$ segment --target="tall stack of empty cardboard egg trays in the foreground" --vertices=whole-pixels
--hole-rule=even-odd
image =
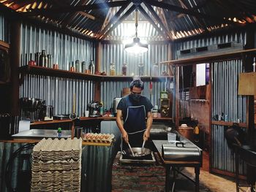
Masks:
[[[42,139],[32,153],[31,192],[80,191],[81,139]]]

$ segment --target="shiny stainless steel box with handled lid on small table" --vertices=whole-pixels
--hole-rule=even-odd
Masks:
[[[162,157],[169,161],[201,161],[202,150],[191,142],[162,145]]]

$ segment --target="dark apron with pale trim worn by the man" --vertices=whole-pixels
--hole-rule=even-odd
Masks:
[[[128,107],[127,118],[124,120],[124,129],[127,131],[129,145],[131,145],[131,147],[142,147],[143,134],[146,130],[145,118],[146,110],[143,105]],[[121,140],[121,150],[128,148],[127,143]]]

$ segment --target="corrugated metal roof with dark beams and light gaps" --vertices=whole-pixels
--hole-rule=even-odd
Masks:
[[[100,40],[132,37],[135,9],[139,12],[138,37],[145,40],[180,39],[256,22],[253,0],[0,0],[0,3],[26,17]]]

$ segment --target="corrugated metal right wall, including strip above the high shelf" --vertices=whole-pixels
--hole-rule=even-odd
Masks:
[[[225,42],[246,43],[245,32],[219,35],[205,39],[195,39],[187,42],[175,44],[175,51],[186,50],[192,47],[203,47]],[[177,58],[177,55],[174,55]],[[241,60],[222,61],[211,64],[212,77],[212,101],[211,113],[221,115],[227,114],[228,121],[246,121],[246,99],[238,96],[238,74],[242,72]],[[226,172],[235,172],[235,158],[231,150],[227,147],[224,137],[224,126],[211,126],[211,168]],[[240,164],[240,174],[245,174],[244,164]]]

